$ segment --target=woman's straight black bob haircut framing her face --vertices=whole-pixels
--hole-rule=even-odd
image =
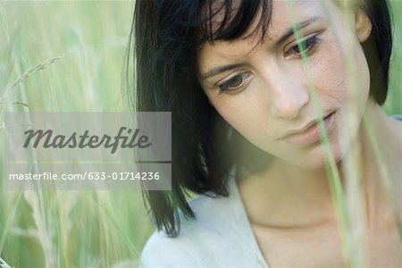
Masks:
[[[227,197],[228,174],[235,162],[255,171],[270,158],[222,119],[197,80],[197,48],[205,42],[240,38],[259,11],[256,29],[264,35],[268,28],[272,0],[241,0],[236,10],[231,8],[233,2],[141,0],[135,4],[127,63],[134,60],[136,89],[129,96],[137,111],[172,112],[172,190],[144,189],[143,198],[157,229],[170,237],[179,234],[179,210],[187,218],[196,217],[186,201],[186,189]],[[389,4],[387,0],[358,4],[373,24],[362,46],[370,69],[370,97],[382,105],[392,48]],[[213,29],[218,13],[223,19]]]

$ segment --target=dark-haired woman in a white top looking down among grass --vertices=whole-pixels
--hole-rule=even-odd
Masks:
[[[172,111],[140,266],[402,265],[386,0],[144,0],[133,33],[138,110]]]

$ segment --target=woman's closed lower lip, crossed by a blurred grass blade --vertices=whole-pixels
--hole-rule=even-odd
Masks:
[[[333,112],[333,113],[330,113],[329,115],[327,115],[323,119],[325,130],[327,130],[327,132],[329,132],[329,130],[331,130],[333,122],[335,121],[335,115],[336,115],[336,112]],[[316,123],[314,123],[314,125],[309,127],[306,131],[296,133],[296,134],[291,134],[282,139],[292,145],[308,146],[308,145],[320,140],[320,127],[318,125],[318,122],[316,122]]]

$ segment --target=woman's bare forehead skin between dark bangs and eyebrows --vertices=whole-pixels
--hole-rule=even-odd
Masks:
[[[252,35],[248,35],[254,29],[258,28],[257,22],[253,21],[249,29],[242,37],[230,40],[214,39],[214,42],[205,42],[197,50],[197,71],[200,75],[209,71],[211,67],[221,63],[231,63],[233,61],[247,62],[253,55],[256,47],[264,47],[264,50],[274,51],[277,44],[285,44],[294,34],[294,26],[297,29],[305,30],[305,32],[313,32],[325,29],[326,27],[334,28],[333,31],[339,32],[339,29],[345,29],[343,23],[343,14],[332,1],[294,1],[295,6],[287,6],[285,1],[272,2],[272,17],[269,27],[262,38],[261,30],[255,30]],[[293,2],[290,2],[293,3]],[[294,10],[292,10],[294,8]],[[327,12],[327,9],[331,13]],[[328,19],[331,16],[331,19]],[[335,25],[331,25],[334,22]],[[333,23],[332,23],[333,24]],[[336,29],[335,29],[336,28]]]

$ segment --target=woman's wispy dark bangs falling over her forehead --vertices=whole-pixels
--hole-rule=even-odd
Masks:
[[[258,30],[262,40],[271,14],[272,0],[205,0],[198,41],[202,44],[248,38]]]

